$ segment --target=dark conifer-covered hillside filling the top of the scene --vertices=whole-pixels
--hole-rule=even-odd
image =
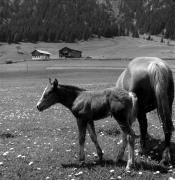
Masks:
[[[175,39],[174,0],[0,1],[0,42],[77,42],[144,33]]]

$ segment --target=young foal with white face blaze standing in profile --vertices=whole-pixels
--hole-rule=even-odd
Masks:
[[[51,105],[61,103],[67,107],[77,119],[79,130],[79,160],[85,161],[84,143],[86,128],[91,140],[95,144],[99,160],[102,160],[102,150],[97,141],[94,120],[113,116],[122,130],[122,147],[117,160],[123,158],[127,143],[129,145],[126,170],[134,165],[135,133],[132,130],[132,122],[137,116],[137,97],[134,93],[116,87],[100,91],[89,91],[70,85],[58,84],[57,79],[45,88],[43,95],[37,103],[39,111],[49,108]]]

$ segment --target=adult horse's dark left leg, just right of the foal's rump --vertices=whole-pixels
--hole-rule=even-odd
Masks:
[[[147,127],[148,127],[146,113],[139,111],[137,118],[139,121],[140,134],[141,134],[141,139],[140,139],[141,153],[144,153],[146,149],[146,135],[147,135]]]

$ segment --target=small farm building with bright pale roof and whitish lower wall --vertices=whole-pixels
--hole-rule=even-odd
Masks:
[[[39,49],[35,49],[34,51],[32,51],[33,60],[47,60],[50,58],[50,55],[51,53]]]

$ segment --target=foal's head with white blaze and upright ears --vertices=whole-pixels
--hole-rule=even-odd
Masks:
[[[53,82],[51,82],[51,79],[49,79],[49,84],[44,89],[44,92],[37,103],[37,109],[39,111],[44,111],[45,109],[57,103],[57,87],[57,79],[55,79]]]

